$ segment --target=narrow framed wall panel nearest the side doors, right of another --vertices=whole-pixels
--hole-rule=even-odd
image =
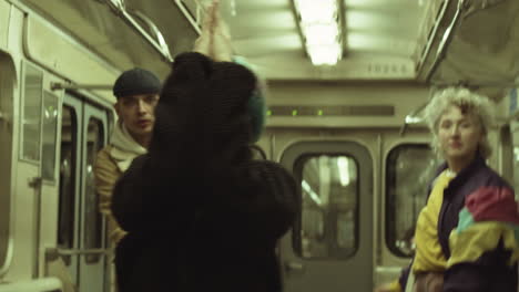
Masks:
[[[54,180],[55,138],[58,126],[58,97],[49,92],[43,94],[43,138],[41,150],[41,177]]]

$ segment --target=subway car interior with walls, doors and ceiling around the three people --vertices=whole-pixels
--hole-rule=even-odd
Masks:
[[[112,85],[167,76],[210,0],[0,0],[0,291],[114,291],[95,154]],[[489,96],[489,165],[519,187],[519,1],[221,0],[236,55],[268,84],[258,159],[302,186],[278,242],[287,292],[398,277],[440,163],[423,109],[446,86]]]

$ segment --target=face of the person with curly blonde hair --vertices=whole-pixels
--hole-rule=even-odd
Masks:
[[[480,122],[474,114],[464,114],[449,106],[438,123],[438,139],[447,160],[470,160],[484,138]]]

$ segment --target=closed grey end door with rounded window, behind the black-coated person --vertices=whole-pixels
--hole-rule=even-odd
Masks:
[[[281,241],[285,291],[373,290],[374,169],[353,140],[299,142],[281,163],[302,184],[302,211]]]

